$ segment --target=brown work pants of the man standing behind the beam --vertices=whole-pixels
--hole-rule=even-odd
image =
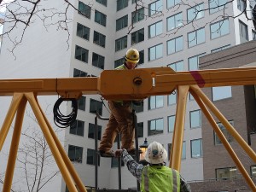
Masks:
[[[119,132],[121,132],[121,148],[131,150],[131,148],[134,148],[134,124],[131,102],[108,101],[108,107],[111,114],[108,125],[103,133],[99,150],[109,151]]]

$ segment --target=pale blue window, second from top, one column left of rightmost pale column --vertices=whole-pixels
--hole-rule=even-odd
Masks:
[[[197,44],[202,44],[206,41],[205,28],[198,29],[188,33],[188,47],[193,47]]]

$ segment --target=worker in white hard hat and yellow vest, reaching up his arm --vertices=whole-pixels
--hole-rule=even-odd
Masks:
[[[128,170],[141,183],[142,192],[190,192],[189,183],[176,170],[166,166],[166,149],[157,142],[150,143],[145,153],[147,166],[138,164],[126,149],[118,149],[115,156],[121,156]]]

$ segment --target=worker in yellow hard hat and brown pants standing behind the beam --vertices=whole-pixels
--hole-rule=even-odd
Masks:
[[[137,67],[139,52],[137,49],[128,49],[125,61],[116,70],[132,70]],[[111,150],[115,137],[121,132],[121,148],[127,149],[129,154],[135,154],[134,147],[134,122],[131,108],[132,101],[108,101],[110,117],[108,125],[103,133],[99,146],[99,154],[102,157],[113,157]]]

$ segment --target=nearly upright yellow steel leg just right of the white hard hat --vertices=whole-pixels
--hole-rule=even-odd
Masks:
[[[170,167],[180,171],[180,164],[183,151],[183,134],[185,124],[186,103],[188,98],[189,86],[178,86],[177,88],[177,113],[172,137],[172,152]],[[175,143],[175,144],[173,144]]]

